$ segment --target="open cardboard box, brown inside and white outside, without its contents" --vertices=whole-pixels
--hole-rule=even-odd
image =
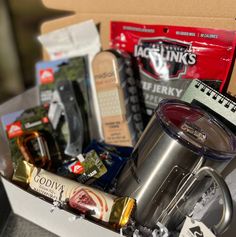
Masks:
[[[109,0],[43,0],[43,3],[48,8],[68,10],[73,14],[65,18],[45,22],[42,25],[42,33],[84,20],[94,19],[99,26],[104,49],[109,48],[111,20],[236,30],[236,4],[234,0],[121,0],[112,2]],[[45,52],[43,57],[47,58]],[[234,74],[236,74],[236,70],[234,70]],[[29,96],[35,98],[35,91],[29,93]],[[15,103],[13,106],[15,110],[26,106],[23,101],[29,100],[29,97],[27,97],[28,99],[25,96],[23,97],[18,97],[18,99],[21,99],[20,104],[15,103],[18,99],[12,101],[13,104]],[[36,103],[36,101],[30,100],[28,106]],[[0,107],[1,114],[14,111],[13,107],[10,109],[12,111],[8,111],[8,105],[9,102]],[[20,107],[17,107],[17,105],[20,105]],[[1,146],[6,146],[6,144],[3,142]],[[6,150],[6,148],[4,149]],[[4,164],[10,164],[9,159],[6,158],[7,153]],[[9,174],[10,165],[6,165],[5,169],[8,170],[5,173]],[[87,220],[76,219],[72,221],[74,215],[66,211],[56,209],[54,212],[50,212],[51,204],[18,188],[5,178],[2,178],[2,182],[12,209],[16,214],[59,236],[119,236],[119,234]],[[233,220],[230,231],[222,236],[232,236],[232,233],[236,231],[234,226],[236,228],[236,218]]]

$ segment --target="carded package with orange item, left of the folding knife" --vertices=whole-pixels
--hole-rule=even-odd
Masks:
[[[47,111],[44,106],[36,106],[1,117],[14,168],[22,159],[47,170],[60,163],[61,155]]]

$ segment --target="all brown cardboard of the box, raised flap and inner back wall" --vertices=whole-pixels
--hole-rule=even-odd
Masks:
[[[181,25],[236,30],[234,0],[42,0],[48,8],[74,14],[42,24],[42,33],[81,21],[93,19],[99,27],[102,47],[109,48],[110,21],[130,21],[143,24]],[[48,58],[44,52],[44,58]],[[225,90],[236,96],[236,64]]]

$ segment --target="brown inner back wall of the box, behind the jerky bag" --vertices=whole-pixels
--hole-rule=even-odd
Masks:
[[[155,16],[155,15],[123,15],[123,14],[75,14],[68,17],[59,18],[42,24],[41,32],[47,33],[53,30],[76,24],[81,21],[93,19],[99,24],[103,49],[109,48],[110,22],[130,21],[142,24],[164,24],[164,25],[184,25],[195,27],[222,28],[228,30],[236,29],[236,21],[230,18],[199,18],[199,17],[176,17],[176,16]]]

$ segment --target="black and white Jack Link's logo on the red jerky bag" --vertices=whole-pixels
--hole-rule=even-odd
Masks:
[[[197,61],[190,43],[161,37],[141,38],[134,46],[134,56],[143,73],[162,80],[181,78],[188,65]]]

